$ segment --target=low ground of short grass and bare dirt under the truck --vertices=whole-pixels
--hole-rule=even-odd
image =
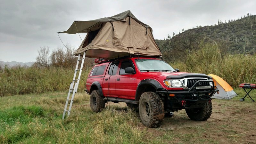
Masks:
[[[67,92],[0,97],[0,143],[255,143],[255,102],[240,102],[245,92],[235,91],[232,100],[212,100],[207,121],[191,121],[181,110],[160,128],[145,127],[125,103],[93,113],[85,93],[76,95],[65,120]],[[256,100],[255,90],[250,95]]]

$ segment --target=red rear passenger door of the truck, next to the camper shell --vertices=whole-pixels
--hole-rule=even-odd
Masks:
[[[119,61],[114,61],[110,64],[109,69],[103,79],[103,95],[115,96],[115,79],[117,75]]]

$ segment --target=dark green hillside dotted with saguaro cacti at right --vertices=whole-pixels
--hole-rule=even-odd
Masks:
[[[238,20],[231,19],[224,22],[218,20],[218,24],[211,26],[183,29],[172,37],[156,40],[156,43],[162,52],[171,51],[179,45],[186,51],[186,47],[191,41],[193,42],[194,38],[199,40],[202,38],[204,42],[220,42],[228,53],[254,54],[256,52],[256,15],[249,15],[247,12],[247,15]]]

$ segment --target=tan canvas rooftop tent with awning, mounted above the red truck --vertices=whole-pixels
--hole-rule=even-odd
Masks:
[[[152,34],[152,28],[138,20],[129,10],[108,18],[74,21],[67,31],[87,33],[75,55],[114,59],[130,54],[162,56]]]

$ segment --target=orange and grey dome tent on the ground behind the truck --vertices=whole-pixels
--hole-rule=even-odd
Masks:
[[[219,93],[215,93],[211,98],[230,100],[235,96],[237,96],[236,92],[225,80],[223,80],[219,76],[212,75],[212,74],[208,76],[212,77],[212,80],[214,81],[215,86],[217,86],[219,89]]]

